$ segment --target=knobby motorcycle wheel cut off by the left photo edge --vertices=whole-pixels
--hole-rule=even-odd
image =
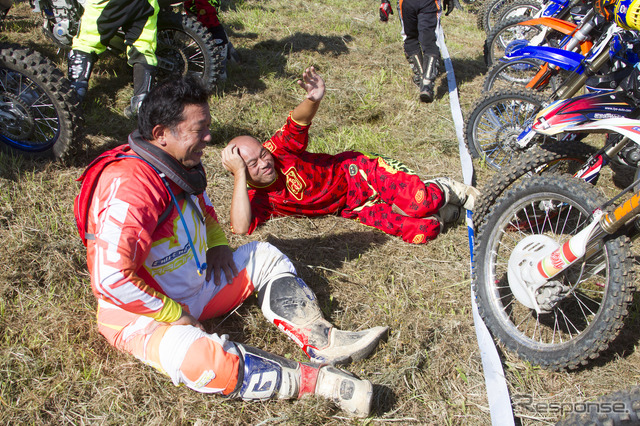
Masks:
[[[40,53],[0,49],[0,148],[62,159],[77,135],[77,100],[62,72]]]

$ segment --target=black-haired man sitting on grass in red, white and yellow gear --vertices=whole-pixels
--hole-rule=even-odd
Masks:
[[[205,192],[200,160],[211,140],[199,80],[158,84],[145,97],[129,143],[85,171],[75,213],[87,245],[98,331],[116,348],[199,392],[247,400],[318,394],[369,415],[372,385],[332,367],[368,356],[387,327],[338,330],[274,246],[232,252]],[[311,359],[291,361],[200,323],[256,292],[265,317]]]

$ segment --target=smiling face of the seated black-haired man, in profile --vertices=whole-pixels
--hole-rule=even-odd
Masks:
[[[166,129],[164,150],[190,169],[200,164],[204,148],[211,141],[211,114],[207,104],[189,104],[182,116],[184,120],[175,128]]]

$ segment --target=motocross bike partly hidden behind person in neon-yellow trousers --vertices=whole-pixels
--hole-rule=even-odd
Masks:
[[[62,49],[71,49],[84,12],[79,0],[30,0],[43,17],[44,33]],[[171,75],[193,74],[212,90],[224,73],[223,48],[216,46],[209,31],[192,16],[172,10],[175,0],[161,0],[158,13],[158,80]],[[114,37],[109,49],[125,51],[124,37]]]

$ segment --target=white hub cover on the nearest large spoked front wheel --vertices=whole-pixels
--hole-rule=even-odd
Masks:
[[[509,256],[507,278],[514,297],[529,309],[538,313],[549,312],[560,300],[562,285],[556,281],[535,280],[540,259],[560,247],[546,235],[529,235],[523,238]]]

